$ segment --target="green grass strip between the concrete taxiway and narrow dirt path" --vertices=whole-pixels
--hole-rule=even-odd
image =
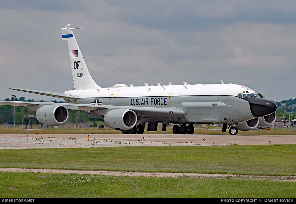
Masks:
[[[0,150],[0,167],[296,175],[296,145]]]

